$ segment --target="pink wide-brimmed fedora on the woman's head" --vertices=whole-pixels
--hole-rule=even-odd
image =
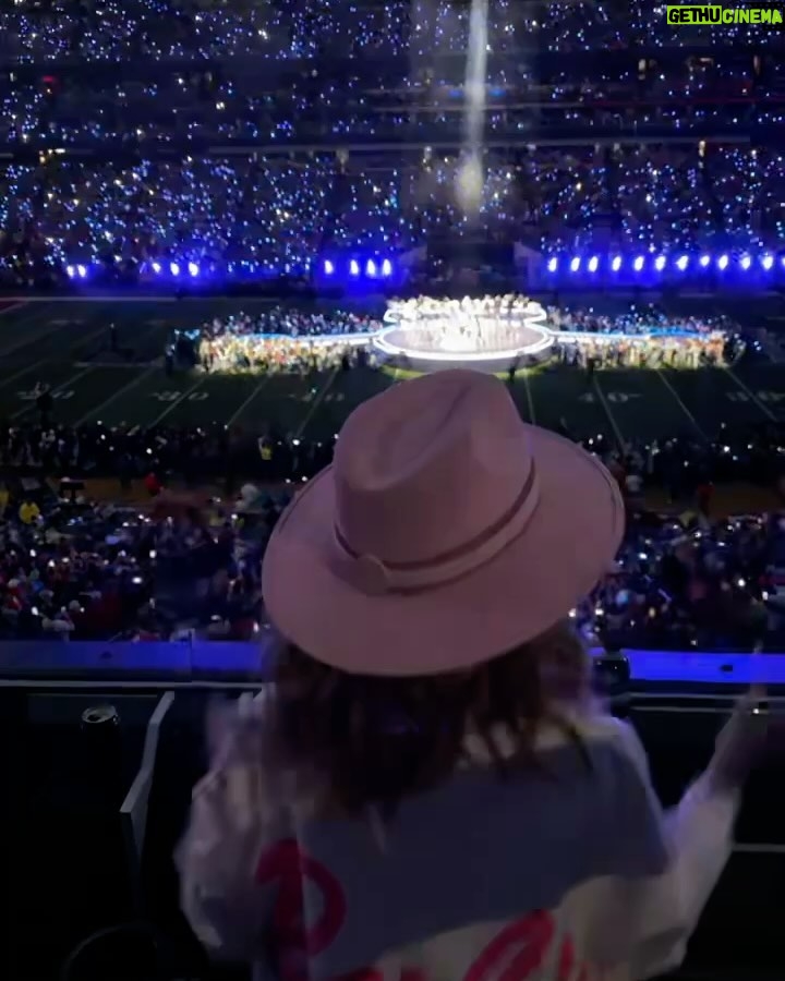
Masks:
[[[335,462],[270,537],[264,601],[282,635],[325,664],[438,674],[555,625],[623,532],[601,463],[521,422],[497,378],[438,372],[347,420]]]

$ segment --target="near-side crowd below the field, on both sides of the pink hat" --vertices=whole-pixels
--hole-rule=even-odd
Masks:
[[[69,472],[95,472],[104,434],[76,435],[84,456],[62,462],[73,468]],[[138,472],[150,468],[145,483],[153,502],[143,513],[90,501],[65,484],[59,497],[38,482],[31,491],[14,468],[3,468],[10,476],[0,488],[0,637],[152,640],[194,632],[247,640],[261,629],[261,557],[291,491],[281,475],[289,474],[289,484],[307,480],[327,462],[331,447],[267,436],[256,444],[257,464],[240,463],[234,471],[234,482],[251,471],[257,483],[227,487],[224,502],[205,500],[203,509],[189,506],[174,518],[162,517],[156,498],[164,482],[183,471],[194,476],[182,456],[184,435],[110,434],[126,452],[134,443],[145,448],[136,463]],[[197,440],[193,434],[194,452]],[[240,452],[249,453],[251,463],[251,441],[238,440],[235,464]],[[782,646],[785,519],[712,517],[713,480],[733,475],[734,469],[765,473],[766,434],[746,445],[744,459],[735,446],[733,453],[720,445],[710,451],[685,439],[629,445],[624,456],[602,436],[585,446],[608,463],[628,502],[627,536],[615,567],[571,614],[587,639],[614,649]],[[150,447],[156,449],[148,462]],[[33,457],[24,470],[41,469]],[[44,472],[57,470],[58,461],[50,460]],[[283,489],[259,489],[273,480]],[[662,482],[683,502],[680,513],[647,510],[647,487]]]

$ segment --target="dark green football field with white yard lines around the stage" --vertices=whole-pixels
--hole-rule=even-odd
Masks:
[[[702,301],[704,304],[708,301]],[[0,417],[35,419],[33,389],[48,383],[56,420],[68,424],[201,426],[246,431],[276,425],[299,438],[326,439],[364,399],[395,384],[375,372],[335,372],[312,383],[287,375],[217,376],[160,366],[172,328],[197,327],[264,301],[76,300],[0,304]],[[776,326],[777,307],[746,308],[748,326]],[[107,364],[108,328],[134,363]],[[785,322],[780,325],[785,326]],[[155,364],[150,364],[154,362]],[[406,384],[400,382],[400,384]],[[664,437],[685,432],[712,438],[720,424],[785,420],[785,364],[741,364],[733,371],[608,371],[589,384],[581,373],[540,370],[519,378],[521,414],[543,426],[564,419],[576,436],[604,433]]]

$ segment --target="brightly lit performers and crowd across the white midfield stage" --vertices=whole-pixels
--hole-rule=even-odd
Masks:
[[[379,361],[370,343],[348,344],[341,335],[367,334],[370,340],[384,326],[397,325],[396,342],[404,347],[408,338],[418,350],[469,355],[515,349],[529,322],[554,332],[554,354],[563,364],[582,367],[698,368],[724,364],[744,350],[727,317],[673,317],[650,304],[631,305],[616,316],[588,308],[543,310],[522,294],[508,293],[473,300],[392,299],[384,318],[286,307],[253,317],[216,317],[201,328],[197,355],[208,372],[306,374],[350,367],[358,359],[375,367]],[[527,337],[527,343],[532,337],[536,335]]]

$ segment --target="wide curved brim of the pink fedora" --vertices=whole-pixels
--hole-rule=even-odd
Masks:
[[[298,494],[270,537],[263,594],[291,643],[352,674],[434,675],[482,664],[563,619],[613,562],[624,534],[616,481],[593,457],[526,426],[540,501],[522,535],[470,574],[422,593],[369,596],[327,560],[333,468]]]

